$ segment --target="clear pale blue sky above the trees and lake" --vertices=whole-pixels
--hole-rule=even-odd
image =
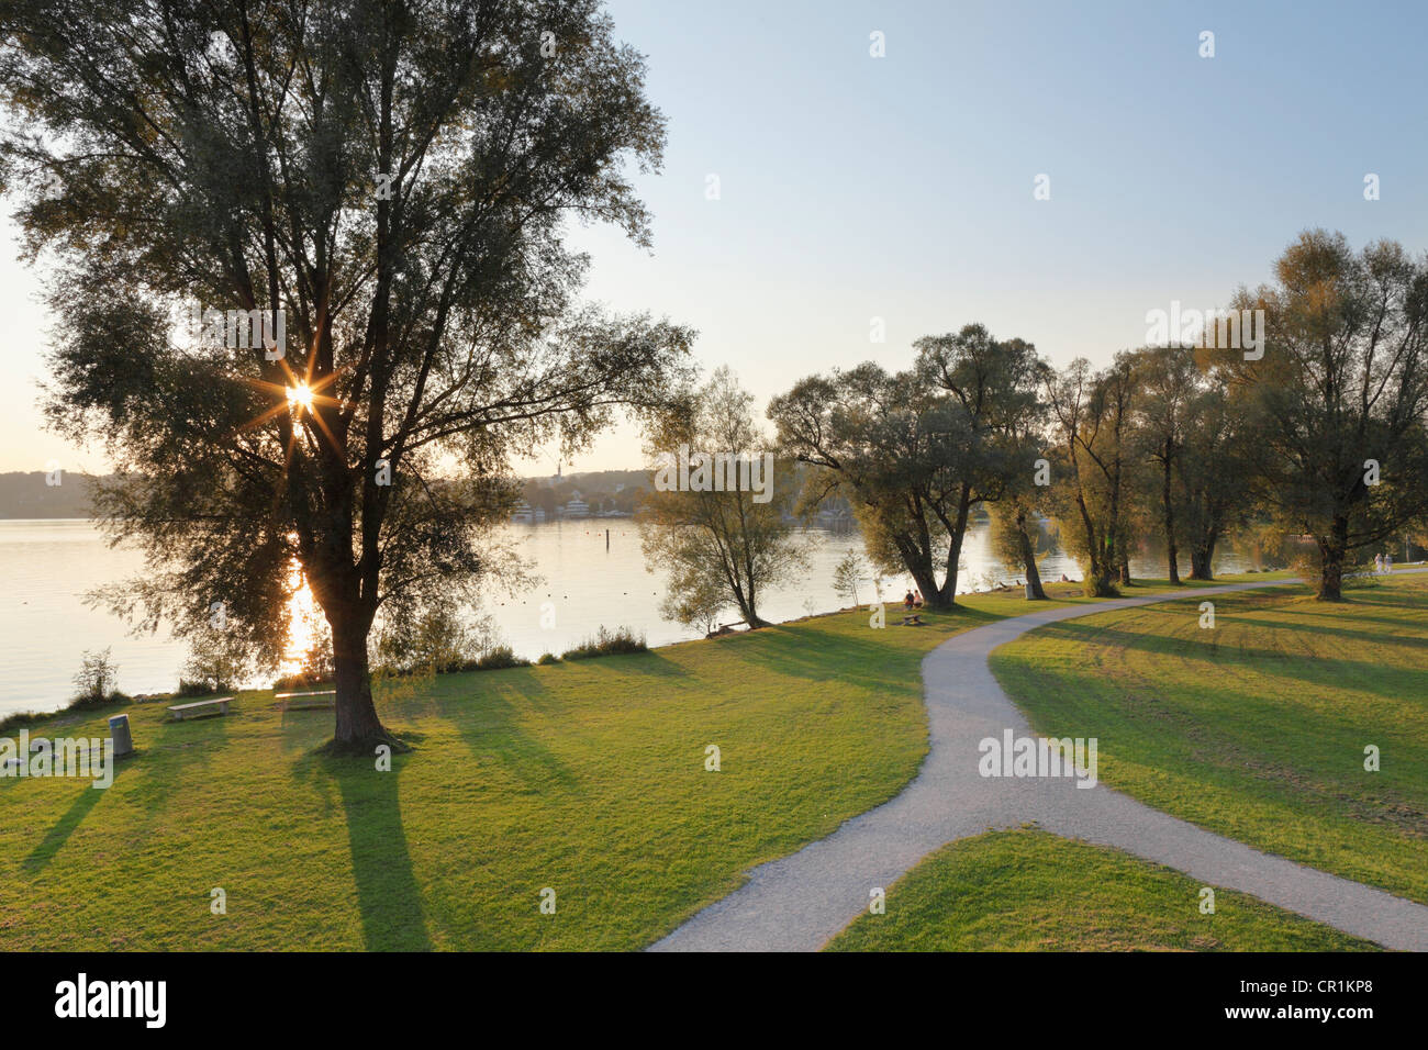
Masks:
[[[733,366],[760,406],[811,371],[902,367],[914,339],[968,321],[1058,364],[1104,361],[1144,341],[1147,310],[1267,280],[1311,226],[1428,249],[1424,3],[608,10],[648,56],[670,136],[664,171],[640,180],[654,251],[573,233],[595,260],[590,296],[700,329],[701,364]],[[1032,199],[1041,173],[1051,200]],[[0,470],[103,467],[36,433],[46,319],[13,240],[7,223]],[[870,341],[871,317],[885,343]],[[621,430],[575,467],[638,463]]]

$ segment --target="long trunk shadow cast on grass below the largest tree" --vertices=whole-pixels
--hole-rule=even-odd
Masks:
[[[368,951],[431,950],[397,793],[404,761],[407,759],[394,756],[391,771],[381,773],[367,759],[311,754],[303,760],[307,773],[320,781],[336,783],[341,796]]]

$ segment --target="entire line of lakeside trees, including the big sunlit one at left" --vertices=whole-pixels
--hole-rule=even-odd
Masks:
[[[630,173],[658,169],[665,131],[644,71],[597,0],[0,7],[0,191],[51,263],[47,417],[104,449],[101,520],[149,559],[97,599],[188,636],[221,604],[227,643],[273,664],[306,581],[331,634],[331,747],[371,754],[401,747],[373,703],[374,624],[500,583],[514,457],[567,459],[617,411],[755,443],[721,426],[747,399],[701,407],[690,329],[580,301],[568,220],[650,243]],[[1315,231],[1277,279],[1240,296],[1268,319],[1258,361],[1148,349],[1054,371],[968,326],[904,371],[805,379],[770,409],[781,463],[803,466],[774,500],[667,507],[723,537],[667,551],[707,591],[683,613],[724,597],[760,623],[760,589],[797,567],[770,510],[791,477],[805,509],[844,496],[934,607],[981,506],[1028,579],[1034,516],[1057,517],[1095,594],[1151,521],[1207,576],[1225,529],[1265,516],[1314,537],[1319,594],[1339,597],[1348,559],[1425,504],[1425,270]],[[194,304],[283,311],[284,351],[194,340]]]

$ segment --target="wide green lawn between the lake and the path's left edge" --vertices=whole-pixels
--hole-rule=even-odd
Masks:
[[[927,750],[922,656],[1027,609],[987,594],[920,629],[875,631],[867,611],[844,611],[406,683],[380,707],[417,750],[390,773],[316,754],[331,714],[283,714],[267,691],[186,723],[136,703],[140,753],[111,789],[0,780],[0,941],[641,947],[747,869],[895,796]],[[61,713],[41,731],[101,736],[104,717]],[[704,769],[708,744],[718,773]],[[224,916],[210,913],[218,887]],[[554,916],[538,910],[545,887]]]

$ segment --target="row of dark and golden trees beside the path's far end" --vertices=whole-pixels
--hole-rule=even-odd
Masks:
[[[1185,560],[1208,580],[1215,546],[1254,526],[1271,546],[1312,544],[1318,597],[1339,600],[1368,549],[1428,531],[1428,261],[1312,230],[1274,274],[1231,301],[1262,310],[1252,354],[1211,337],[1057,370],[968,324],[918,340],[902,371],[804,379],[768,416],[783,454],[813,467],[804,506],[844,494],[873,563],[911,576],[934,609],[955,603],[978,506],[1034,599],[1044,514],[1087,594],[1130,583],[1152,533],[1172,583]]]

